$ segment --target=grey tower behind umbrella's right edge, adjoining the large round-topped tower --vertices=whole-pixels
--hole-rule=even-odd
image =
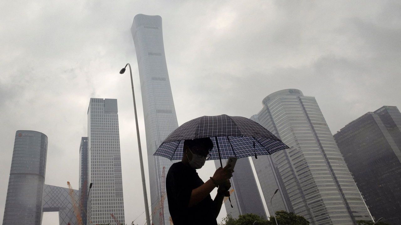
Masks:
[[[258,115],[253,115],[250,119],[261,124]],[[269,131],[279,137],[274,131]],[[269,214],[274,215],[275,212],[280,210],[294,212],[273,157],[271,155],[261,155],[257,159],[252,157],[252,161]],[[274,194],[277,189],[279,191]]]

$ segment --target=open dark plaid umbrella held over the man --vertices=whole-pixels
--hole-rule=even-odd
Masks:
[[[184,140],[209,137],[213,149],[209,160],[270,155],[289,149],[280,139],[264,127],[245,117],[227,115],[203,116],[188,121],[170,133],[154,155],[170,160],[181,160]]]

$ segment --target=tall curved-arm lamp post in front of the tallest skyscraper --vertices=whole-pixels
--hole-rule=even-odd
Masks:
[[[149,205],[148,205],[148,194],[146,193],[146,182],[145,182],[145,172],[144,172],[144,162],[142,160],[142,148],[141,148],[141,139],[139,136],[139,127],[138,127],[138,117],[136,115],[136,104],[135,104],[135,94],[134,94],[134,82],[132,82],[132,71],[131,65],[129,63],[124,66],[120,70],[120,74],[125,72],[126,67],[130,68],[130,76],[131,76],[131,87],[132,87],[132,99],[134,100],[134,114],[135,114],[135,125],[136,125],[136,137],[138,138],[138,152],[139,152],[139,162],[141,166],[141,175],[142,175],[142,189],[144,191],[144,201],[145,201],[145,214],[146,214],[146,223],[150,225],[150,216],[149,216]]]

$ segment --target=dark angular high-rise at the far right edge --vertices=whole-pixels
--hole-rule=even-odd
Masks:
[[[373,217],[401,224],[401,113],[383,106],[334,135]]]

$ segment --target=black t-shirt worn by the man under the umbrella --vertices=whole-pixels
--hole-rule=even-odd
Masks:
[[[193,189],[203,185],[195,169],[182,162],[174,163],[166,177],[168,209],[174,225],[217,225],[214,204],[210,195],[188,207]]]

